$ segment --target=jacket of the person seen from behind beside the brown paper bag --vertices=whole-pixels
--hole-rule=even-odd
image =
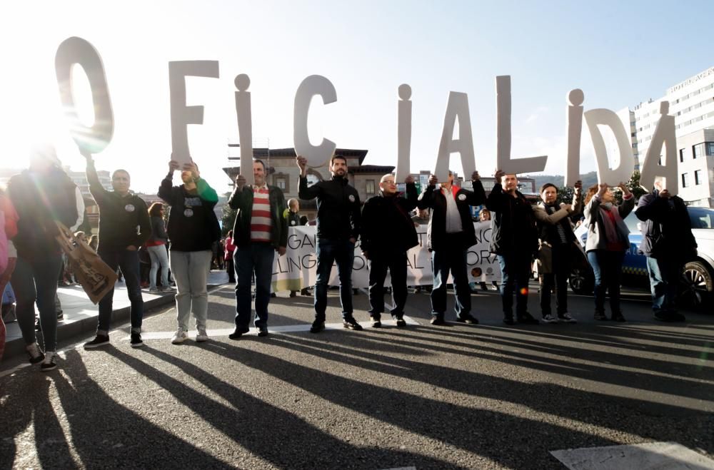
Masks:
[[[24,170],[10,178],[7,195],[19,216],[13,238],[19,257],[42,259],[61,251],[54,238],[58,233],[54,221],[67,228],[77,223],[76,188],[60,168],[46,174]]]

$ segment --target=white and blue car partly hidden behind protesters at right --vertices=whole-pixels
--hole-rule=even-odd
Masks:
[[[682,272],[680,302],[688,307],[704,307],[714,299],[714,209],[687,209],[692,233],[697,240],[698,255],[685,265]],[[625,224],[630,229],[630,249],[625,253],[623,262],[623,281],[649,285],[647,260],[639,253],[642,242],[640,221],[634,211],[625,218]],[[583,247],[588,239],[587,229],[583,225],[575,229],[575,236]],[[570,272],[570,289],[576,294],[591,294],[593,285],[593,270],[588,260],[577,260]]]

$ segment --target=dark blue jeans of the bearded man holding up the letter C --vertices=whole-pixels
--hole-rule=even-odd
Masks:
[[[352,317],[352,265],[355,259],[355,245],[349,240],[318,239],[317,280],[315,281],[315,320],[325,321],[327,309],[327,287],[330,282],[332,263],[337,263],[340,278],[340,304],[342,317]]]

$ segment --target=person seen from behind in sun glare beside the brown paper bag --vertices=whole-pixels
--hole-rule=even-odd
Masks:
[[[62,253],[56,222],[74,232],[82,223],[84,199],[79,188],[64,173],[54,148],[36,149],[29,169],[14,175],[7,186],[8,196],[17,210],[17,235],[14,245],[17,262],[11,282],[17,300],[17,322],[31,364],[42,362],[41,370],[57,367],[57,315],[54,297]],[[40,315],[45,352],[36,343],[35,302]]]

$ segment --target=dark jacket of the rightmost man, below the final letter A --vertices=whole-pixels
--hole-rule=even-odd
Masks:
[[[678,256],[681,260],[696,256],[697,242],[682,198],[666,200],[653,190],[640,198],[635,215],[643,221],[640,254],[653,258]]]

